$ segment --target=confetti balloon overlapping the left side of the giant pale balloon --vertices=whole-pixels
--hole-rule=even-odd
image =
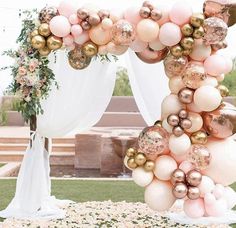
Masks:
[[[188,153],[188,160],[192,162],[197,169],[206,169],[211,161],[211,153],[207,147],[202,144],[193,144]]]

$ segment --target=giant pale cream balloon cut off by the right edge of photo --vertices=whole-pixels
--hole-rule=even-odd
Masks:
[[[211,153],[211,162],[203,173],[215,183],[225,186],[236,181],[236,141],[232,136],[225,140],[210,140],[206,147]]]

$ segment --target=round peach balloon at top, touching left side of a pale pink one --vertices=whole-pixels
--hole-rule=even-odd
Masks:
[[[151,19],[143,19],[137,24],[137,35],[144,42],[152,42],[157,39],[159,25]]]

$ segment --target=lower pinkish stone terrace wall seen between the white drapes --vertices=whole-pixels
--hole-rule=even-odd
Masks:
[[[95,127],[145,127],[143,117],[136,112],[105,112]]]

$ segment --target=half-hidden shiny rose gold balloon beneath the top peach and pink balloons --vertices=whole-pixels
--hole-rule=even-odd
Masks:
[[[153,64],[162,61],[167,56],[168,52],[168,48],[164,48],[160,51],[154,51],[151,48],[147,48],[143,52],[136,52],[135,54],[143,62]]]

